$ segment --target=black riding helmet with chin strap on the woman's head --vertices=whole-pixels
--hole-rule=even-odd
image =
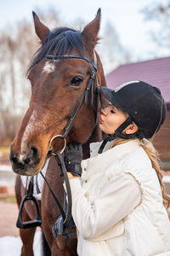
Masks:
[[[160,130],[166,118],[167,107],[158,88],[142,81],[130,81],[121,84],[115,90],[101,87],[101,91],[109,102],[127,112],[129,117],[113,135],[105,139],[99,148],[99,153],[103,151],[108,141],[116,137],[149,139]],[[139,130],[131,135],[122,134],[132,122],[138,125]]]

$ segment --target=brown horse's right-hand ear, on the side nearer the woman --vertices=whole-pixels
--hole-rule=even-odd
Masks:
[[[94,46],[98,41],[98,32],[100,26],[101,9],[98,9],[97,15],[94,20],[88,23],[82,31],[82,38],[85,48],[90,54],[94,52]]]

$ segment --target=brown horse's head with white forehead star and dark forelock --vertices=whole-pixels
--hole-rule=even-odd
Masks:
[[[28,70],[28,79],[31,81],[30,106],[11,145],[10,154],[14,172],[21,175],[35,175],[40,171],[49,144],[52,144],[54,151],[63,147],[61,139],[56,137],[53,142],[51,139],[55,135],[63,135],[65,126],[81,102],[82,107],[66,140],[69,143],[87,142],[94,131],[97,112],[96,78],[99,84],[105,85],[99,55],[94,53],[100,9],[82,32],[67,27],[51,32],[35,13],[33,17],[42,45]],[[93,85],[93,79],[94,87],[90,86],[89,93],[87,87],[90,83]]]

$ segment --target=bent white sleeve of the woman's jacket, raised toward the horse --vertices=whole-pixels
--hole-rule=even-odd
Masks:
[[[131,174],[112,178],[91,204],[78,178],[72,178],[72,216],[84,239],[94,239],[125,218],[141,201],[139,183]]]

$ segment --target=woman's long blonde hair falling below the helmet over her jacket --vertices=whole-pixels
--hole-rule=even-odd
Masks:
[[[161,193],[162,193],[162,197],[163,197],[163,205],[164,207],[166,207],[166,209],[168,209],[168,207],[170,207],[170,196],[167,195],[167,193],[165,192],[165,188],[164,185],[162,183],[162,172],[161,172],[161,160],[159,158],[159,154],[156,151],[156,148],[154,148],[153,144],[146,140],[146,139],[133,139],[133,140],[137,140],[139,142],[139,145],[144,148],[145,153],[149,156],[150,161],[151,161],[151,165],[152,167],[155,169],[156,171],[156,175],[159,179],[159,183],[161,186]],[[120,145],[122,143],[127,143],[128,141],[132,141],[132,139],[122,139],[122,138],[116,138],[111,146],[111,148],[115,147],[116,145]]]

